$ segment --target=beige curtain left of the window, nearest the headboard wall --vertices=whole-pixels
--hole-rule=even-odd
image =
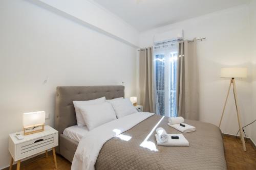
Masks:
[[[143,111],[155,112],[153,93],[153,47],[140,49],[139,54],[139,88],[140,104]]]

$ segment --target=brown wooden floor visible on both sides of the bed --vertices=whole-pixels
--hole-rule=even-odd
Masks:
[[[228,169],[256,169],[256,150],[247,141],[247,152],[243,151],[240,140],[233,136],[224,136],[225,157]],[[40,158],[41,157],[41,158]],[[68,170],[71,163],[60,155],[57,155],[58,169]],[[8,168],[6,168],[7,170]],[[13,166],[16,169],[16,166]],[[53,155],[49,154],[48,158],[38,156],[36,159],[22,162],[21,170],[48,170],[55,169]]]

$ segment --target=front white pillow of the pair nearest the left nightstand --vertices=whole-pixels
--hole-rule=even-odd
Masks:
[[[78,107],[89,130],[116,119],[116,114],[108,102]]]

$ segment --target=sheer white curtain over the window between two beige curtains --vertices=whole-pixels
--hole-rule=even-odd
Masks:
[[[178,42],[154,46],[154,91],[156,114],[177,116]]]

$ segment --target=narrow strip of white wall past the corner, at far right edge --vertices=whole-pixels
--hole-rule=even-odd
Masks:
[[[250,23],[251,23],[251,60],[252,60],[252,119],[256,119],[256,0],[251,1]],[[256,144],[256,123],[251,128],[251,139]]]

